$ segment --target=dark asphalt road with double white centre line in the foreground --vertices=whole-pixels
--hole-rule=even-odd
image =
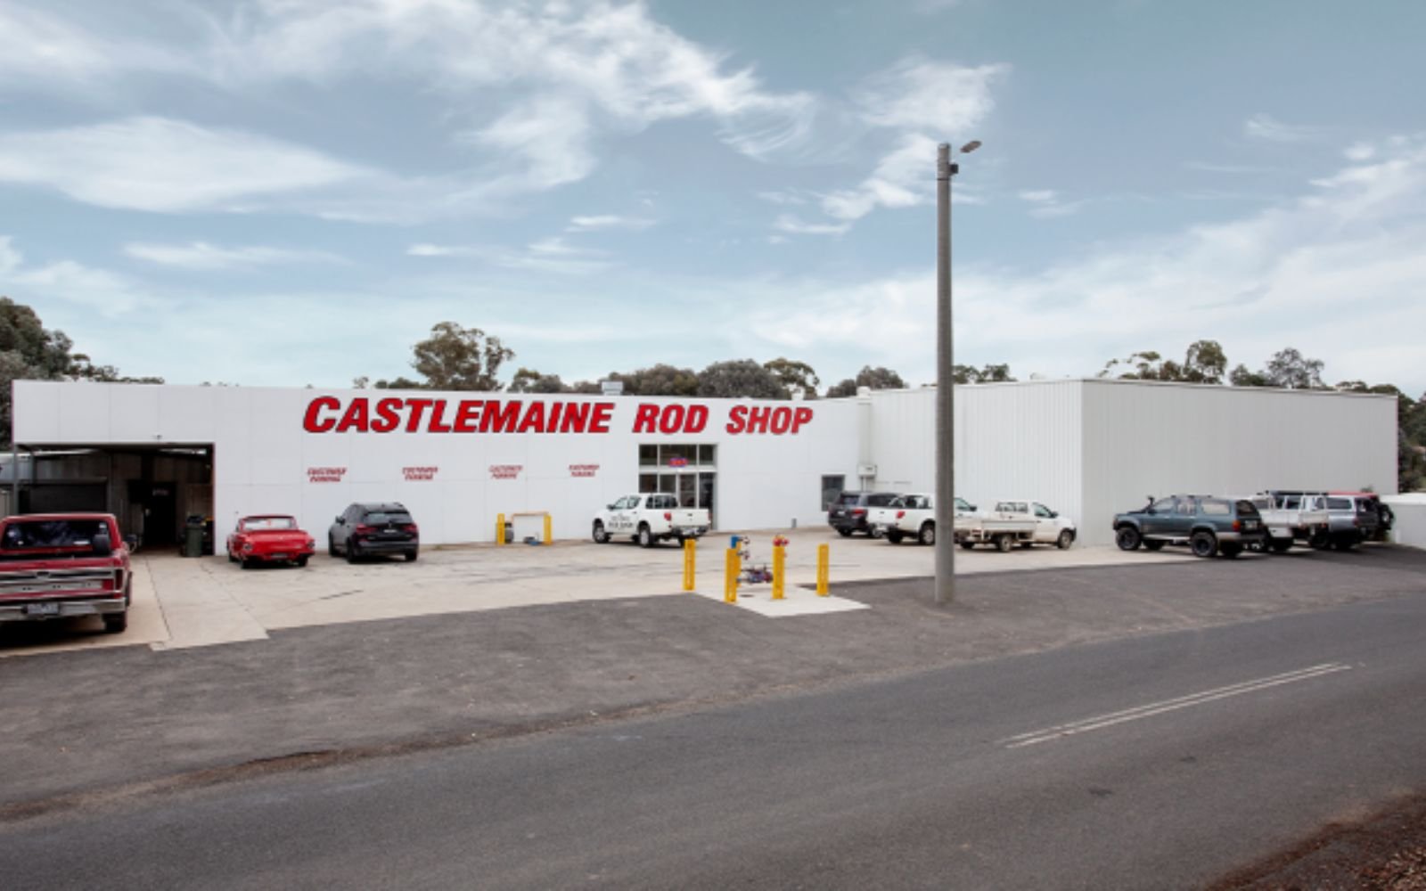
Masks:
[[[6,888],[1188,888],[1426,786],[1426,594],[0,825]]]

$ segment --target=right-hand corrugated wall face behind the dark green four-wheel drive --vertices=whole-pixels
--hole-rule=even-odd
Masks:
[[[1084,542],[1149,495],[1368,486],[1396,492],[1392,396],[1084,382]]]

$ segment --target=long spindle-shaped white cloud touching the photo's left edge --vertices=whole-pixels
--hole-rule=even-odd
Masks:
[[[299,145],[161,117],[0,135],[0,181],[113,208],[240,210],[248,200],[366,175]]]

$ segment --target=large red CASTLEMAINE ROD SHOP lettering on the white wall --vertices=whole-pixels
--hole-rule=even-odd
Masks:
[[[520,399],[439,399],[318,396],[307,405],[308,433],[607,433],[613,402],[523,402]],[[727,409],[727,433],[797,433],[813,411],[779,405],[734,405]],[[635,433],[702,433],[709,406],[650,402],[635,411]]]

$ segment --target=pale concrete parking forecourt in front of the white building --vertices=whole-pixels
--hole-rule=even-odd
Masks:
[[[723,599],[723,550],[734,533],[699,542],[696,594]],[[771,562],[776,530],[747,533],[753,563]],[[770,586],[743,586],[739,606],[763,616],[799,616],[864,604],[817,597],[817,546],[830,545],[833,584],[934,575],[934,549],[891,545],[830,529],[783,532],[787,600],[770,602]],[[1078,566],[1166,565],[1185,550],[1156,555],[1114,547],[957,550],[957,575]],[[1245,556],[1245,560],[1262,559]],[[278,629],[405,619],[446,613],[622,597],[684,596],[683,557],[673,543],[642,549],[629,542],[556,542],[550,546],[472,545],[428,549],[416,563],[375,557],[356,565],[318,553],[307,567],[244,570],[225,557],[181,559],[141,553],[134,560],[130,629],[104,634],[97,620],[37,623],[0,630],[0,657],[60,650],[145,644],[155,650],[261,640]]]

